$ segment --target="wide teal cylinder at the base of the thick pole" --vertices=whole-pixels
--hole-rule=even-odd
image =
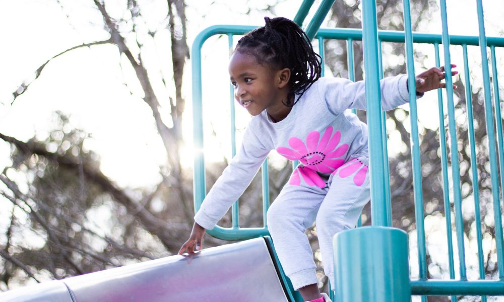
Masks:
[[[409,302],[408,235],[363,226],[334,237],[337,302]]]

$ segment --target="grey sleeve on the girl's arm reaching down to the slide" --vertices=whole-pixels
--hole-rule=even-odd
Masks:
[[[195,221],[203,228],[212,230],[248,187],[269,152],[270,149],[261,143],[249,125],[240,149],[205,197],[194,217]]]

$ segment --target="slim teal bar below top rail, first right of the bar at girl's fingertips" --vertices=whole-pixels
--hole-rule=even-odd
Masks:
[[[476,241],[478,245],[478,266],[479,278],[485,279],[485,266],[483,262],[483,245],[481,235],[481,213],[479,206],[479,187],[478,187],[478,164],[476,162],[476,139],[474,137],[474,118],[472,110],[472,95],[471,95],[471,78],[469,75],[469,60],[467,56],[467,45],[462,45],[464,55],[464,79],[466,88],[466,106],[467,106],[467,123],[469,126],[469,146],[471,148],[471,172],[474,193],[474,220],[476,222]],[[481,302],[486,302],[486,296],[481,297]]]

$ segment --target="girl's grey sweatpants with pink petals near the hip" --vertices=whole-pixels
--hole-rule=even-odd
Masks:
[[[303,177],[297,181],[299,185],[286,184],[268,209],[268,229],[294,289],[318,283],[313,252],[305,234],[313,222],[316,222],[324,272],[334,289],[333,236],[354,228],[362,208],[370,199],[367,159],[361,158],[359,163],[362,164],[360,167],[356,162],[353,164],[356,169],[348,167],[347,164],[351,163],[340,167],[324,179],[323,188],[309,179],[304,181]],[[340,173],[345,167],[346,173]],[[349,170],[355,171],[348,175]]]

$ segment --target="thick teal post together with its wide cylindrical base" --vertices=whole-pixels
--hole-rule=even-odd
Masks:
[[[409,302],[408,236],[402,230],[387,227],[375,0],[362,2],[362,27],[373,226],[334,237],[335,300]]]

